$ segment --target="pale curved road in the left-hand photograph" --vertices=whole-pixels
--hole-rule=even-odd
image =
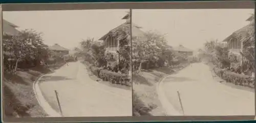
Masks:
[[[47,76],[50,79],[41,80],[39,87],[55,110],[58,110],[54,93],[57,90],[63,116],[132,115],[132,91],[92,80],[86,67],[79,61],[69,63]]]

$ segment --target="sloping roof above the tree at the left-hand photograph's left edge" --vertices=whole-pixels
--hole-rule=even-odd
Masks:
[[[9,36],[18,35],[19,31],[16,29],[18,26],[3,19],[3,34]]]

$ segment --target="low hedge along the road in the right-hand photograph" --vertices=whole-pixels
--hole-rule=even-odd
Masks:
[[[234,83],[236,85],[244,85],[254,87],[254,79],[251,76],[237,74],[234,72],[227,71],[225,69],[214,68],[215,73],[227,82]]]

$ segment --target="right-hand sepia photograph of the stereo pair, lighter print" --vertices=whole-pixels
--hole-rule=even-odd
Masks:
[[[255,115],[254,38],[254,9],[132,10],[133,115]]]

